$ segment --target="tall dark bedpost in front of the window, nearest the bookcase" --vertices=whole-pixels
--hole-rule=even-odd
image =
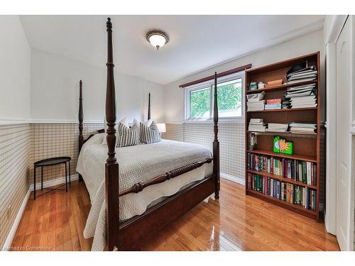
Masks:
[[[213,106],[213,173],[214,173],[214,199],[219,199],[219,141],[218,141],[218,99],[217,99],[217,72],[214,72],[214,106]]]

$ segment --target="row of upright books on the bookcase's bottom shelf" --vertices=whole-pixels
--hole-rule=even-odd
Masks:
[[[272,196],[290,204],[302,205],[305,209],[317,209],[317,192],[309,187],[282,182],[259,174],[248,174],[248,188]]]

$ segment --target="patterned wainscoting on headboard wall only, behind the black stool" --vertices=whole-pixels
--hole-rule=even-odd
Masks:
[[[104,124],[84,123],[83,135],[87,138]],[[76,174],[78,156],[79,128],[75,123],[35,123],[31,124],[31,160],[29,170],[29,182],[33,184],[33,163],[58,156],[70,156],[70,173]],[[55,165],[43,168],[43,182],[65,177],[65,166]],[[36,174],[36,180],[40,182],[40,170]]]

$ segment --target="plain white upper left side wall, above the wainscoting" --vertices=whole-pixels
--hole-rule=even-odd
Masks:
[[[0,119],[30,118],[31,48],[18,16],[0,16]]]

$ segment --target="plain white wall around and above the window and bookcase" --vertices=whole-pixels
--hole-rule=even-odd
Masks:
[[[185,79],[180,79],[176,82],[165,85],[165,120],[167,123],[182,122],[184,120],[184,89],[179,87],[180,84],[190,82],[195,79],[214,74],[214,71],[222,72],[231,70],[234,67],[251,63],[252,67],[260,67],[268,65],[280,60],[286,60],[292,57],[305,55],[311,52],[321,52],[322,58],[322,88],[324,88],[324,44],[323,31],[315,31],[304,35],[300,38],[289,40],[288,42],[275,45],[271,48],[266,48],[251,55],[241,57],[239,59],[227,62],[223,65],[214,67],[211,70],[194,74]],[[323,89],[324,91],[324,89]]]

